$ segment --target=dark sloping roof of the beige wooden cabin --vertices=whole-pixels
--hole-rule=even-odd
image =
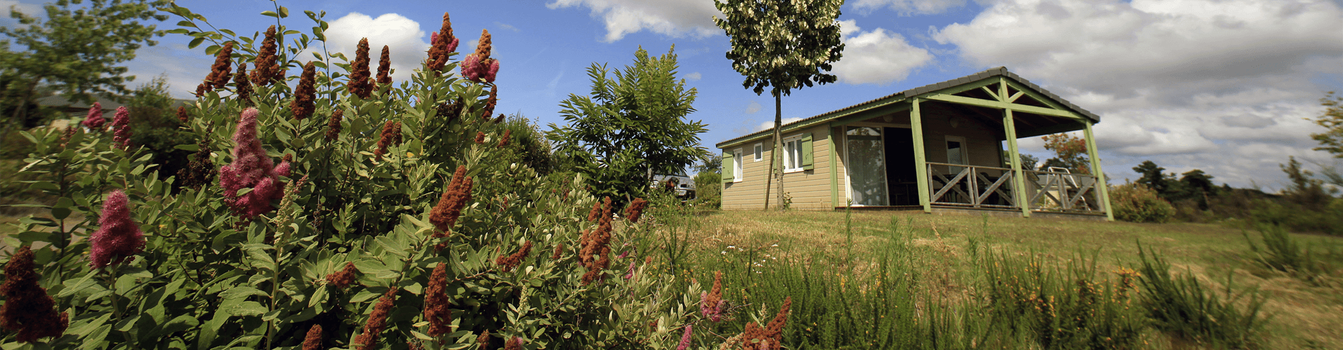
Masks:
[[[979,80],[983,80],[983,79],[987,79],[987,78],[992,78],[992,76],[1005,76],[1005,78],[1017,80],[1018,83],[1022,83],[1022,84],[1030,87],[1031,90],[1035,90],[1037,93],[1039,93],[1039,94],[1042,94],[1042,95],[1045,95],[1045,97],[1048,97],[1048,98],[1058,102],[1060,105],[1064,105],[1065,107],[1068,107],[1068,109],[1070,109],[1070,110],[1073,110],[1073,111],[1076,111],[1076,113],[1078,113],[1078,114],[1081,114],[1081,115],[1092,119],[1092,122],[1095,122],[1095,123],[1100,122],[1100,115],[1096,115],[1095,113],[1091,113],[1091,111],[1088,111],[1088,110],[1085,110],[1082,107],[1078,107],[1077,105],[1073,105],[1072,102],[1068,102],[1066,99],[1056,95],[1054,93],[1050,93],[1049,90],[1045,90],[1044,87],[1039,87],[1038,84],[1031,83],[1030,80],[1026,80],[1026,78],[1021,78],[1021,75],[1017,75],[1015,72],[1007,71],[1007,67],[997,67],[997,68],[990,68],[990,70],[986,70],[986,71],[982,71],[982,72],[976,72],[976,74],[960,76],[960,78],[956,78],[956,79],[951,79],[951,80],[945,80],[945,82],[940,82],[940,83],[933,83],[933,84],[925,84],[925,86],[909,89],[909,90],[905,90],[905,91],[894,93],[894,94],[890,94],[890,95],[874,98],[874,99],[870,99],[870,101],[866,101],[866,102],[862,102],[862,103],[857,103],[857,105],[853,105],[853,106],[847,106],[847,107],[843,107],[843,109],[838,109],[838,110],[822,113],[822,114],[818,114],[815,117],[810,117],[810,118],[804,118],[804,119],[800,119],[800,121],[794,121],[794,122],[790,122],[790,123],[784,123],[784,125],[780,126],[780,129],[788,130],[790,129],[788,126],[810,125],[810,123],[818,122],[818,119],[837,118],[837,117],[845,115],[845,114],[847,114],[850,111],[857,111],[857,110],[862,110],[862,109],[866,109],[866,107],[872,107],[873,105],[877,105],[877,102],[882,102],[880,105],[892,105],[892,103],[896,103],[896,102],[902,102],[902,101],[905,101],[905,99],[908,99],[911,97],[917,97],[917,95],[924,94],[924,93],[931,93],[931,91],[943,90],[943,89],[948,89],[948,87],[955,87],[955,86],[960,86],[960,84],[968,84],[968,83],[979,82]],[[743,135],[743,137],[737,137],[737,138],[732,138],[732,139],[728,139],[728,141],[719,142],[714,146],[723,148],[723,146],[727,146],[727,145],[731,145],[731,143],[736,143],[739,141],[752,139],[752,138],[763,137],[763,135],[767,135],[767,134],[771,134],[771,133],[774,133],[772,129],[760,130],[760,131],[751,133],[751,134],[747,134],[747,135]]]

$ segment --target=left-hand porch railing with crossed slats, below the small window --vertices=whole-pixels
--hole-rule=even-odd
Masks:
[[[943,172],[945,169],[947,172]],[[1007,168],[928,162],[928,198],[933,205],[1019,209]]]

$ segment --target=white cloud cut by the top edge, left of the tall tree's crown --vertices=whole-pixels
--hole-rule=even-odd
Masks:
[[[588,7],[606,23],[606,40],[614,43],[643,30],[673,38],[705,38],[719,32],[712,16],[721,15],[713,0],[555,0],[547,7]]]

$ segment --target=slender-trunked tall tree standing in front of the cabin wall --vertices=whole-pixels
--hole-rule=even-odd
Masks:
[[[770,180],[766,182],[764,207],[770,209],[770,184],[778,184],[778,201],[783,204],[783,95],[813,83],[834,83],[838,78],[830,63],[839,60],[839,5],[843,0],[725,0],[713,5],[723,19],[713,24],[727,31],[732,50],[727,56],[732,68],[747,79],[756,95],[770,87],[774,95],[774,150],[770,157]],[[782,205],[779,208],[783,208]]]

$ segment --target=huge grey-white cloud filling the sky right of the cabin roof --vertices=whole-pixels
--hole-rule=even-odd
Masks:
[[[1099,113],[1120,178],[1152,160],[1275,188],[1288,156],[1326,158],[1309,150],[1323,129],[1303,118],[1323,111],[1319,80],[1343,74],[1330,0],[1002,0],[932,36]]]

